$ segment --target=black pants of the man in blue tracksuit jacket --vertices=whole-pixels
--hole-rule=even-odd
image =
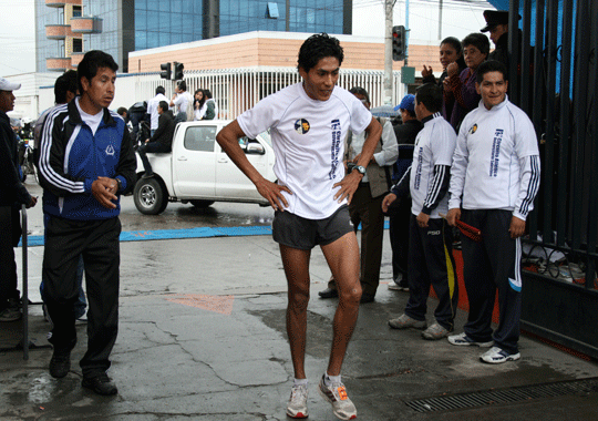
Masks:
[[[83,376],[110,368],[110,353],[118,330],[118,266],[121,222],[69,220],[50,216],[45,227],[43,274],[48,311],[54,325],[50,342],[56,349],[76,343],[73,305],[79,297],[76,266],[83,256],[87,291],[87,352]]]

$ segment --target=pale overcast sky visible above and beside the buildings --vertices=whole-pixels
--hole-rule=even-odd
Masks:
[[[35,71],[35,0],[0,0],[0,76]],[[243,1],[243,0],[239,0]],[[383,0],[353,0],[353,33],[383,37]],[[483,0],[445,0],[439,28],[436,1],[410,2],[410,37],[436,40],[439,33],[460,39],[484,25],[482,10],[493,9]],[[405,0],[394,7],[394,24],[404,24]],[[377,22],[372,24],[372,22]]]

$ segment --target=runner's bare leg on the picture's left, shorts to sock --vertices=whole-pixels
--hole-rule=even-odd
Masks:
[[[289,336],[295,378],[306,379],[307,306],[309,302],[309,258],[311,251],[280,245],[280,256],[289,289],[287,335]]]

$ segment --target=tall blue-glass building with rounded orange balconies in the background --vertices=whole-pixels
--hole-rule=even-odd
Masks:
[[[351,33],[352,0],[35,0],[37,71],[75,68],[90,50],[114,57],[249,31]]]

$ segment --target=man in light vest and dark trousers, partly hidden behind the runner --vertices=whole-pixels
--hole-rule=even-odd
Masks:
[[[354,86],[349,90],[361,103],[370,110],[370,95],[363,88]],[[353,228],[361,224],[361,304],[374,300],[380,284],[380,264],[382,261],[382,239],[384,236],[384,214],[382,199],[390,191],[390,166],[396,162],[399,148],[392,123],[386,119],[379,119],[382,125],[382,135],[375,146],[374,154],[367,167],[365,175],[349,204],[349,213]],[[344,161],[349,171],[361,157],[367,133],[360,135],[349,132],[346,140]],[[338,297],[333,278],[328,281],[328,288],[318,292],[321,298]]]

